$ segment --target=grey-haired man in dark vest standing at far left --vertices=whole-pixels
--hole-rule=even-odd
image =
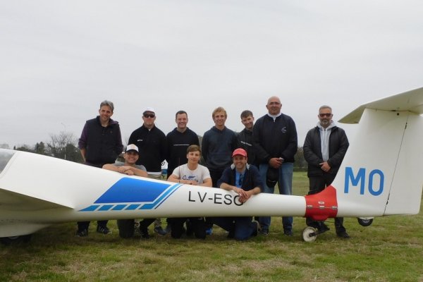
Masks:
[[[119,123],[111,119],[114,104],[104,100],[100,104],[99,116],[87,121],[82,129],[78,147],[88,166],[102,168],[104,164],[114,163],[123,150],[121,128]],[[76,235],[88,235],[90,221],[78,222]],[[97,221],[97,232],[110,234],[107,221]]]

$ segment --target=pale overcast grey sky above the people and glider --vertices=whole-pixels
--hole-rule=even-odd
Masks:
[[[104,99],[124,143],[149,106],[165,134],[185,110],[203,135],[218,106],[240,131],[278,96],[302,146],[322,104],[337,121],[423,86],[422,15],[419,0],[0,0],[0,145],[78,138]]]

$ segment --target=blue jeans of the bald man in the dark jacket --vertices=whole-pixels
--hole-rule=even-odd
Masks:
[[[260,164],[260,177],[263,181],[263,191],[264,193],[273,194],[275,188],[269,188],[266,185],[266,173],[269,164]],[[278,179],[278,189],[279,194],[281,195],[293,195],[293,163],[282,163],[279,168],[279,179]],[[259,223],[262,230],[269,231],[270,227],[270,216],[260,216]],[[282,217],[283,230],[291,230],[293,228],[293,217],[292,216],[283,216]]]

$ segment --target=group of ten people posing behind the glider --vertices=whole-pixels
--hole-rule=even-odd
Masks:
[[[117,121],[111,119],[114,104],[100,104],[99,116],[85,123],[78,143],[80,152],[89,166],[97,166],[128,175],[161,178],[161,163],[168,162],[168,181],[208,188],[233,190],[241,202],[260,192],[278,192],[292,195],[294,156],[298,149],[297,130],[290,116],[281,112],[278,97],[270,97],[266,104],[267,114],[257,119],[251,111],[240,115],[244,129],[235,133],[226,127],[226,110],[214,109],[214,126],[207,130],[200,141],[198,135],[188,128],[188,114],[178,111],[176,128],[165,135],[154,124],[157,116],[153,108],[142,113],[142,126],[130,135],[125,149],[125,163],[116,162],[123,151],[121,131]],[[333,122],[330,106],[321,106],[317,126],[309,130],[303,146],[308,163],[309,194],[324,190],[336,176],[348,149],[348,138],[342,128]],[[204,166],[200,158],[204,159]],[[216,224],[228,231],[228,238],[246,240],[257,233],[268,235],[270,216],[212,217],[167,219],[168,226],[161,227],[161,219],[142,219],[139,223],[143,238],[149,238],[148,227],[154,222],[154,231],[160,235],[170,232],[173,238],[183,233],[205,238],[212,234]],[[282,218],[283,234],[293,235],[293,218]],[[88,234],[90,222],[78,222],[78,236]],[[184,227],[185,224],[185,227]],[[322,221],[306,219],[307,226],[325,232],[329,227]],[[336,234],[341,238],[350,236],[343,226],[343,219],[335,220]],[[97,232],[109,234],[107,221],[97,221]]]

